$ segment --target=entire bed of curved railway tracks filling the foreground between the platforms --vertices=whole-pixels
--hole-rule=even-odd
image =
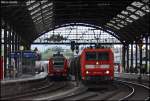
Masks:
[[[74,90],[73,90],[74,89]],[[57,81],[24,95],[2,100],[149,100],[149,87],[129,81],[75,87],[69,81]]]

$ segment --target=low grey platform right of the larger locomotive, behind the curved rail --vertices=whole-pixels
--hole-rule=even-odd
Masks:
[[[114,77],[121,78],[121,79],[130,79],[130,80],[138,80],[140,77],[140,74],[136,73],[114,73]],[[150,81],[150,74],[141,74],[141,80],[142,81]]]

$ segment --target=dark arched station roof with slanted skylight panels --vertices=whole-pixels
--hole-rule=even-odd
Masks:
[[[1,16],[26,41],[68,23],[87,23],[122,42],[149,35],[149,0],[1,0]]]

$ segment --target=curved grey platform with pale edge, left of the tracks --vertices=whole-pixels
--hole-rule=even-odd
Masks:
[[[24,74],[17,78],[5,78],[1,80],[1,97],[13,97],[34,91],[36,88],[48,83],[46,77],[47,73],[41,72],[36,75]]]

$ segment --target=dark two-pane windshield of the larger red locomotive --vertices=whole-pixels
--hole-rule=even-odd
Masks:
[[[86,60],[109,60],[108,52],[87,52]]]

